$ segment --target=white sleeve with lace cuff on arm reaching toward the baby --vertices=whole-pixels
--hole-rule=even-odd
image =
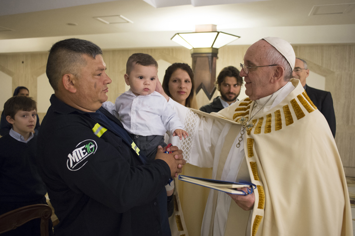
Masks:
[[[189,136],[180,140],[171,134],[168,142],[183,151],[188,163],[199,167],[213,167],[216,145],[221,143],[220,133],[225,123],[198,114],[172,99],[169,99],[169,104],[177,112]]]

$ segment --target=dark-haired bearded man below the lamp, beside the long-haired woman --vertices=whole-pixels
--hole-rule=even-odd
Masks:
[[[237,68],[231,65],[224,67],[216,80],[216,86],[221,95],[214,98],[211,103],[201,106],[200,110],[207,113],[218,112],[231,105],[237,100],[242,84],[243,78],[239,76]]]

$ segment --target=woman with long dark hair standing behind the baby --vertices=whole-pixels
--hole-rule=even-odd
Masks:
[[[198,109],[195,95],[194,74],[188,64],[173,63],[170,65],[165,71],[162,87],[170,99],[186,107]],[[184,125],[186,128],[187,124]],[[188,142],[188,137],[186,141]],[[174,144],[174,141],[172,141],[172,143]],[[211,178],[212,168],[200,168],[186,163],[181,174]],[[178,212],[174,214],[180,215],[181,225],[184,225],[183,221],[185,219],[189,235],[201,235],[203,212],[205,210],[209,188],[178,180],[176,180],[175,183],[178,189],[178,191],[176,191],[176,189],[174,190],[177,205],[180,205],[181,202],[181,208],[184,213],[182,214],[180,207],[178,207]],[[182,233],[181,231],[177,232],[177,234],[174,231],[174,221],[175,217],[169,218],[171,233],[172,235],[180,235],[180,233]],[[184,230],[186,229],[184,228]]]

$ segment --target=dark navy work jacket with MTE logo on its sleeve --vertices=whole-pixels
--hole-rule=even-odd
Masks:
[[[134,143],[128,145],[88,112],[55,95],[51,103],[38,137],[38,159],[60,220],[56,235],[161,235],[156,196],[170,177],[168,164],[143,164]]]

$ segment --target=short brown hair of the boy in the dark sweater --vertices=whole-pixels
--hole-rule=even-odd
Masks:
[[[19,110],[31,111],[37,110],[36,101],[32,97],[27,96],[13,96],[10,97],[4,104],[5,117],[10,115],[15,119],[15,114]]]

